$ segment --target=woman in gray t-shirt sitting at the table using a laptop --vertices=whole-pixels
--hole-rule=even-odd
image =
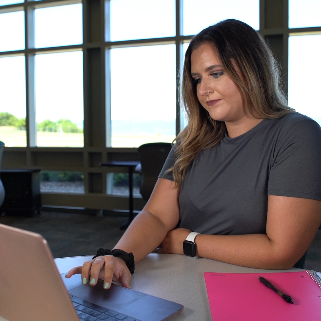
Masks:
[[[237,20],[201,31],[185,55],[182,103],[188,125],[115,248],[138,262],[160,243],[159,253],[183,254],[189,236],[188,255],[292,267],[320,226],[321,129],[286,105],[265,41]],[[129,287],[127,253],[98,252],[66,277]]]

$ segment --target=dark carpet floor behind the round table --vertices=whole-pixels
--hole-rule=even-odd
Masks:
[[[100,247],[112,248],[124,231],[126,217],[45,212],[35,217],[0,216],[0,223],[41,234],[53,257],[95,255]],[[308,249],[305,269],[321,272],[321,229]]]

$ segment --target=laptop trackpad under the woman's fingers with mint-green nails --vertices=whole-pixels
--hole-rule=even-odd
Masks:
[[[108,290],[104,290],[101,280],[98,280],[96,286],[81,285],[69,290],[68,293],[111,310],[126,307],[128,304],[146,296],[143,293],[129,290],[115,284],[111,284]]]

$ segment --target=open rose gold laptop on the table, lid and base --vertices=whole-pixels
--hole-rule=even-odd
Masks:
[[[0,224],[0,316],[11,321],[162,321],[183,310],[176,302],[102,280],[60,275],[47,241],[37,233]]]

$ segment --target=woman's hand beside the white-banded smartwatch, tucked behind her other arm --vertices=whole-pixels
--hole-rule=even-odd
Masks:
[[[169,231],[162,242],[162,247],[157,249],[157,253],[184,254],[183,242],[190,232],[191,230],[182,227]]]

